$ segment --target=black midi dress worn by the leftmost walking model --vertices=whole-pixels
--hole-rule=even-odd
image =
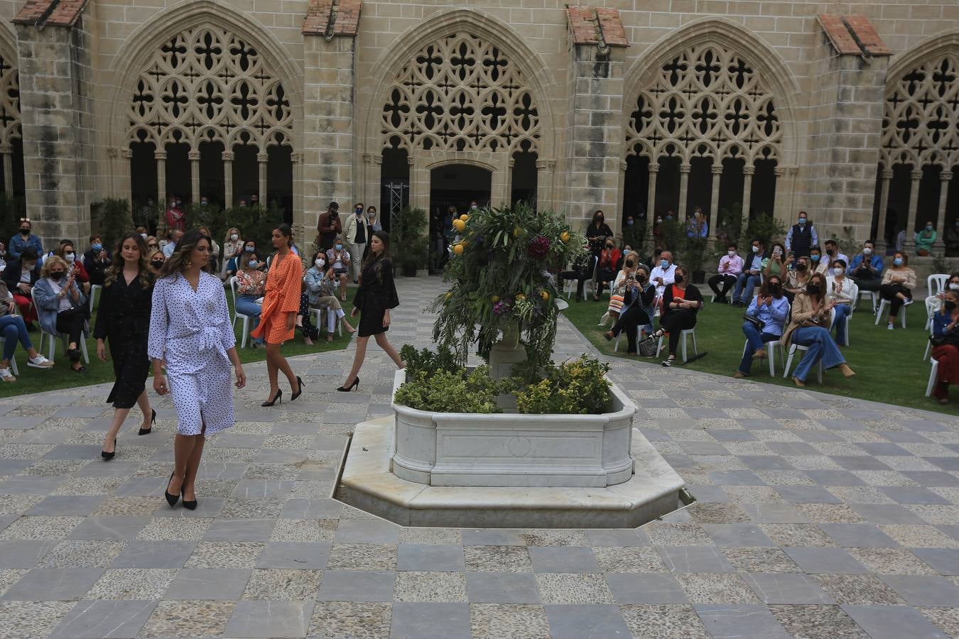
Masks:
[[[152,276],[150,285],[143,285],[139,277],[127,284],[122,272],[101,293],[93,336],[110,347],[116,382],[106,401],[114,408],[132,408],[147,387],[152,296]]]

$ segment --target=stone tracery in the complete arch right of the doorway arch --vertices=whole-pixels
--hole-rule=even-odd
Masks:
[[[626,129],[628,155],[684,162],[776,159],[783,129],[758,70],[729,49],[704,44],[669,60],[640,92]]]

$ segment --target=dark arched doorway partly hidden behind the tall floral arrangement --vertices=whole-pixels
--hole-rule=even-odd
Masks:
[[[431,264],[438,266],[444,261],[452,222],[447,217],[450,207],[462,214],[469,210],[473,201],[478,206],[486,206],[490,203],[492,187],[493,171],[476,165],[445,164],[430,171]]]

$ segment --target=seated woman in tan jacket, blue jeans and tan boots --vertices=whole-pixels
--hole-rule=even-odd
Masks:
[[[787,350],[792,344],[807,347],[792,373],[797,386],[806,386],[809,371],[820,359],[824,369],[838,367],[843,377],[855,375],[832,339],[829,323],[833,303],[826,301],[826,288],[826,278],[822,273],[814,273],[806,290],[796,295],[791,321],[783,333],[783,345]]]

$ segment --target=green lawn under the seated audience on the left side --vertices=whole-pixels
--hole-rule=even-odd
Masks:
[[[347,315],[349,315],[350,310],[353,308],[351,302],[353,292],[353,287],[348,287],[346,293],[346,299],[348,301],[342,303],[343,310],[346,311]],[[227,291],[226,294],[226,304],[230,308],[230,317],[232,318],[233,300],[230,298],[229,291]],[[96,313],[94,313],[94,318],[96,318]],[[353,326],[358,326],[359,318],[351,319],[350,323]],[[90,324],[92,326],[93,322],[91,321]],[[39,328],[38,323],[35,323],[35,326]],[[240,330],[242,328],[243,322],[237,322],[235,329],[237,348],[240,347]],[[40,344],[40,332],[30,333],[30,339],[34,342],[34,347],[38,348]],[[250,343],[251,339],[247,339],[246,349],[240,350],[240,359],[244,363],[263,361],[267,358],[267,352],[265,350],[253,349]],[[295,339],[284,345],[283,353],[287,356],[323,353],[325,351],[345,349],[347,344],[349,344],[349,334],[345,331],[342,337],[339,336],[339,333],[335,334],[332,343],[326,341],[326,332],[324,331],[320,334],[319,339],[314,342],[313,346],[303,344],[303,338],[300,336],[300,332],[296,331]],[[63,355],[63,340],[58,340],[57,342],[57,365],[48,370],[40,370],[27,366],[27,354],[23,352],[20,346],[17,346],[14,356],[16,357],[20,375],[16,376],[16,381],[13,383],[0,382],[0,397],[42,393],[44,391],[56,391],[61,388],[74,388],[76,386],[86,386],[87,384],[112,382],[113,364],[109,360],[109,342],[107,341],[106,345],[107,360],[105,362],[97,358],[97,340],[92,337],[88,338],[86,340],[86,348],[87,353],[90,354],[90,363],[86,365],[88,371],[86,375],[81,375],[70,370],[69,360]],[[43,344],[43,354],[47,354],[46,342]]]

